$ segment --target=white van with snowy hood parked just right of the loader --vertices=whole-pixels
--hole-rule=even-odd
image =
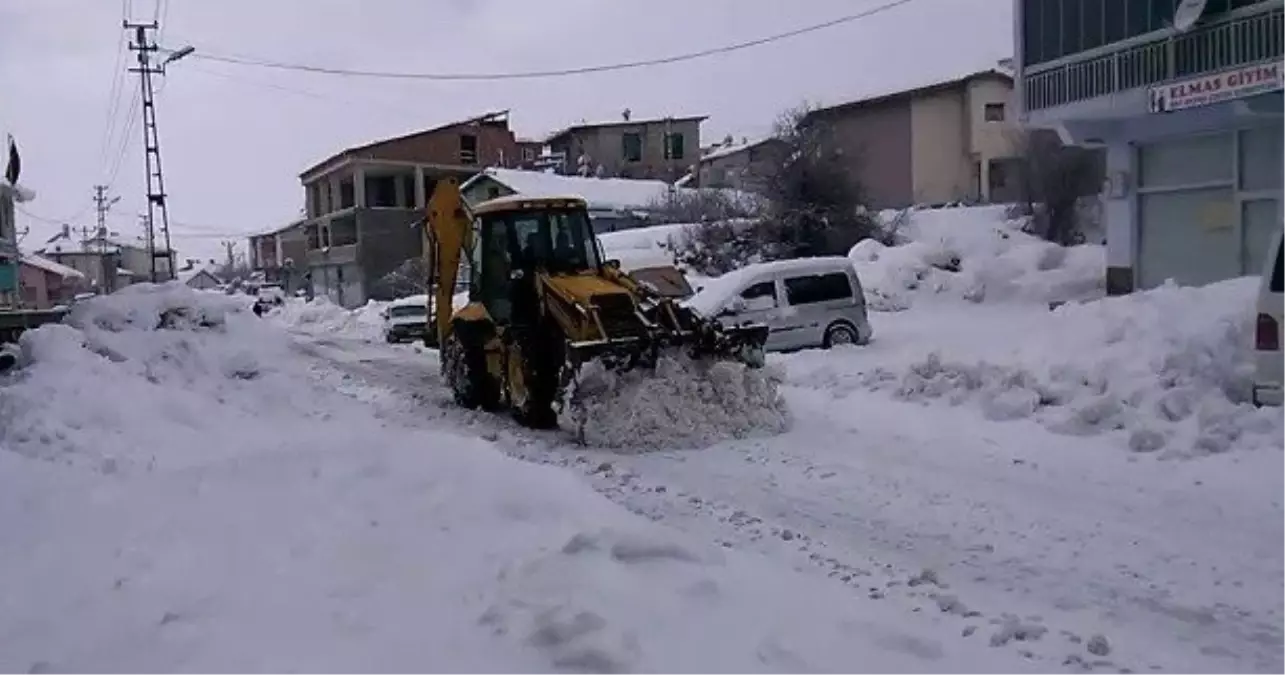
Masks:
[[[865,345],[874,336],[846,257],[748,265],[711,279],[686,305],[726,324],[766,324],[768,351]]]

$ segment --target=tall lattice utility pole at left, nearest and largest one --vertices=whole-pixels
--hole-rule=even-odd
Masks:
[[[152,89],[152,76],[164,75],[164,64],[154,64],[152,54],[159,48],[152,40],[149,31],[158,28],[157,22],[132,23],[123,22],[125,30],[134,31],[130,50],[139,55],[139,64],[130,68],[130,72],[139,73],[143,94],[143,157],[148,172],[148,256],[152,258],[152,283],[157,283],[157,258],[163,257],[168,262],[166,266],[166,279],[173,279],[173,251],[170,246],[170,210],[166,207],[164,177],[161,171],[161,138],[157,135],[155,91]],[[164,238],[164,252],[155,249],[155,216],[161,213],[161,234]]]

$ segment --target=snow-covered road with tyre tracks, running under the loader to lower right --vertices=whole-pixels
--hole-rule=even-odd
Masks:
[[[1285,667],[1277,454],[1163,462],[969,408],[790,386],[797,419],[783,436],[616,455],[451,408],[432,352],[299,339],[359,381],[420,397],[425,424],[576,467],[635,512],[1027,658],[1133,672]],[[830,368],[853,378],[889,357],[848,356]],[[1103,652],[1099,635],[1105,654],[1088,649]]]

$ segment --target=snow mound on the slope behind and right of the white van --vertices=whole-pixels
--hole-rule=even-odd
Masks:
[[[1099,297],[1105,284],[1101,246],[1059,247],[1022,231],[1006,207],[961,207],[905,213],[901,246],[867,239],[848,253],[871,309],[908,309],[917,297],[973,302],[1064,302]]]

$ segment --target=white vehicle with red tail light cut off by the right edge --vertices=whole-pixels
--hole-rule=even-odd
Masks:
[[[1258,316],[1254,320],[1254,405],[1285,405],[1285,352],[1281,324],[1285,323],[1285,229],[1276,233],[1258,287]]]

